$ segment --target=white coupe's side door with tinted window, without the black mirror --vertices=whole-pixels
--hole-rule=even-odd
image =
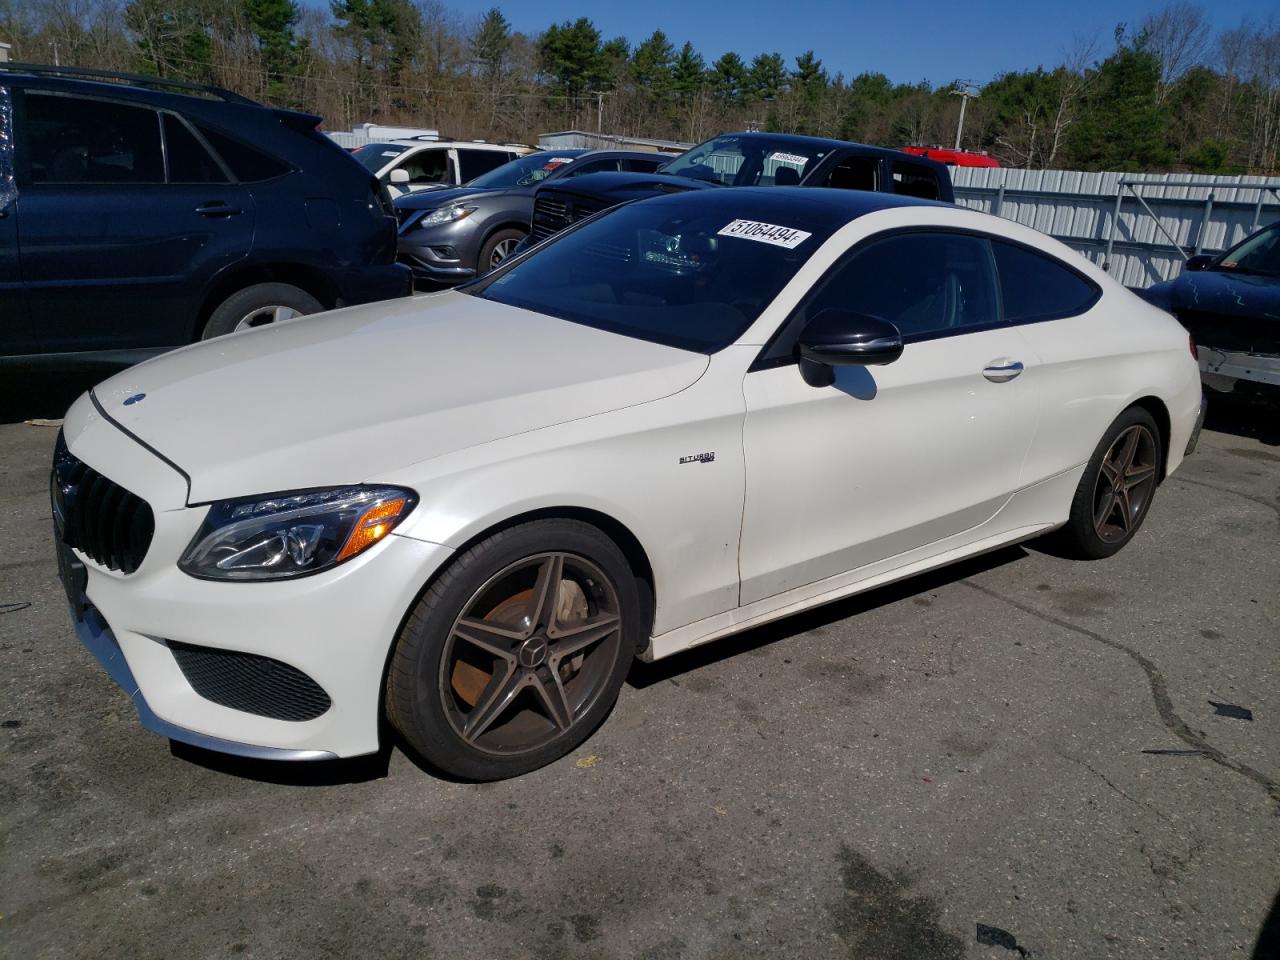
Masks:
[[[895,323],[902,356],[809,387],[788,358],[828,307]],[[1000,310],[988,242],[960,233],[873,239],[819,282],[744,384],[744,604],[960,545],[1009,500],[1037,415]]]

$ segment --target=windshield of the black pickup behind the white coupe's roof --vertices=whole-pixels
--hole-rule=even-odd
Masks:
[[[662,172],[723,187],[785,187],[803,180],[828,152],[826,146],[785,137],[716,137],[681,154]]]

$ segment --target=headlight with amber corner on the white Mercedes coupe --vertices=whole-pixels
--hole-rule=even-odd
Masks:
[[[417,497],[338,486],[215,503],[178,567],[205,580],[284,580],[348,561],[387,536]]]

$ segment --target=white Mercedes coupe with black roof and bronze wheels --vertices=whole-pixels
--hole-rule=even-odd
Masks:
[[[1107,557],[1203,416],[1196,346],[955,206],[700,191],[456,291],[221,337],[67,415],[81,639],[142,723],[449,774],[581,744],[652,660],[1053,532]]]

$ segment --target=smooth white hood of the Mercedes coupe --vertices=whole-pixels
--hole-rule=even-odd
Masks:
[[[677,393],[708,357],[439,293],[220,337],[93,389],[189,502],[361,483]],[[127,402],[128,401],[128,402]]]

